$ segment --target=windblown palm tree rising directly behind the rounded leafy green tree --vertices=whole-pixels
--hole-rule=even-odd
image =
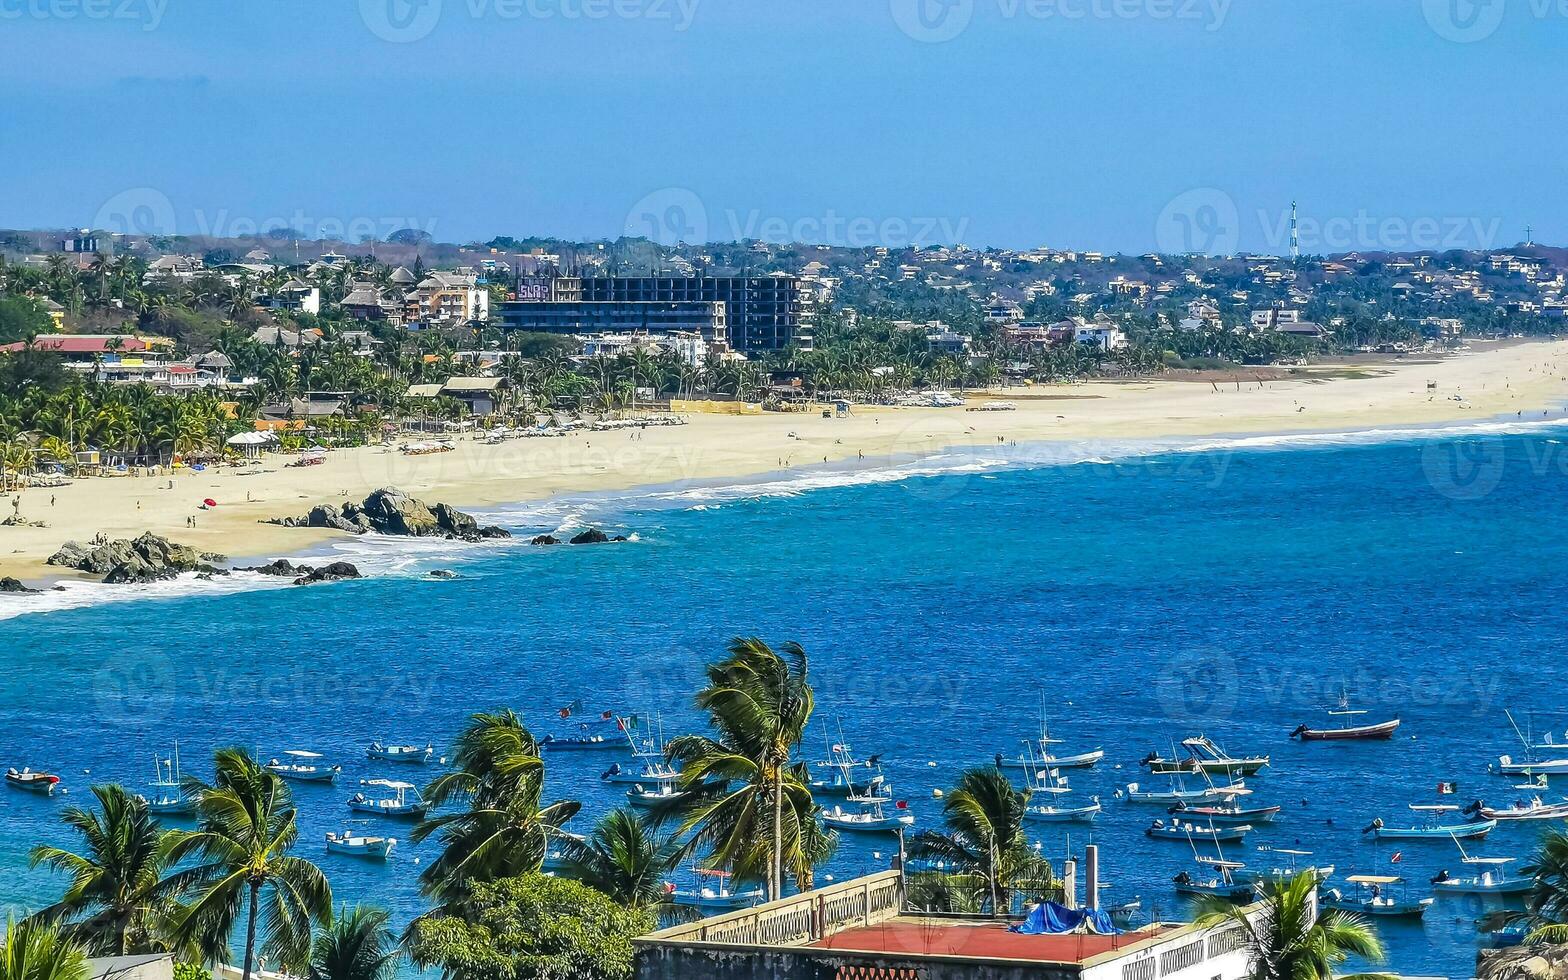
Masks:
[[[503,709],[469,720],[452,751],[453,768],[426,789],[431,809],[466,803],[453,814],[414,828],[414,840],[441,833],[441,856],[420,875],[423,889],[442,903],[461,900],[474,881],[494,881],[539,870],[549,831],[577,815],[575,801],[539,804],[544,760],[522,720]]]

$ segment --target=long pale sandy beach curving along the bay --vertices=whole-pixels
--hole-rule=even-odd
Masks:
[[[0,527],[0,575],[39,583],[69,572],[44,564],[61,543],[103,532],[155,532],[230,557],[276,557],[336,535],[260,524],[321,502],[397,486],[428,502],[488,506],[566,492],[682,480],[740,478],[825,461],[873,466],[952,445],[1093,442],[1178,436],[1359,430],[1519,416],[1568,403],[1568,342],[1479,347],[1444,359],[1314,365],[1275,381],[1134,381],[1035,386],[972,394],[1016,411],[855,406],[848,417],[690,416],[690,425],[638,433],[577,433],[499,445],[463,439],[450,453],[406,456],[389,447],[337,450],[321,466],[224,467],[174,477],[78,480],[0,500],[47,527]],[[1430,386],[1430,387],[1428,387]],[[218,503],[201,510],[204,499]],[[194,517],[196,525],[187,521]]]

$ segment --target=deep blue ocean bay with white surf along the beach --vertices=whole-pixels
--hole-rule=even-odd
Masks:
[[[1181,914],[1170,880],[1193,867],[1190,850],[1143,836],[1160,808],[1112,795],[1151,782],[1146,753],[1200,732],[1272,756],[1251,801],[1286,808],[1228,858],[1265,866],[1258,847],[1305,847],[1338,878],[1392,869],[1430,894],[1432,873],[1460,869],[1452,842],[1375,847],[1359,831],[1408,822],[1439,781],[1458,782],[1460,803],[1516,798],[1486,773],[1519,754],[1505,709],[1535,734],[1568,729],[1565,494],[1557,428],[997,447],[489,514],[517,532],[601,524],[635,535],[626,544],[361,539],[332,550],[375,572],[362,582],[235,580],[19,615],[0,621],[0,765],[50,768],[71,792],[0,792],[0,903],[58,895],[60,880],[27,870],[28,848],[74,844],[63,806],[88,803],[94,781],[149,781],[179,740],[202,775],[224,743],[340,762],[336,789],[296,789],[299,851],[340,902],[406,919],[433,844],[403,840],[384,867],[323,853],[359,779],[408,773],[367,762],[367,743],[445,745],[495,706],[543,734],[575,699],[685,731],[702,663],[737,633],[806,646],[822,721],[808,756],[842,726],[858,754],[881,753],[920,826],[939,822],[933,789],[1018,751],[1044,695],[1052,734],[1105,748],[1104,765],[1073,773],[1105,812],[1071,840],[1035,834],[1047,855],[1098,842],[1107,900]],[[461,577],[430,580],[433,568]],[[1286,737],[1323,721],[1342,688],[1403,718],[1399,735]],[[550,793],[586,804],[579,829],[618,801],[596,778],[615,757],[550,757]],[[1538,829],[1504,825],[1472,853],[1524,858]],[[845,837],[826,873],[887,856],[887,842]],[[1383,924],[1391,966],[1471,975],[1480,911],[1438,898],[1424,924]]]

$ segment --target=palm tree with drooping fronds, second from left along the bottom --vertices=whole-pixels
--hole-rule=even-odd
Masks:
[[[215,762],[212,786],[187,779],[187,792],[201,800],[198,828],[169,831],[169,861],[198,861],[169,878],[193,894],[174,935],[218,960],[243,914],[245,980],[256,963],[257,925],[267,930],[260,953],[278,967],[299,969],[310,955],[310,928],[332,920],[332,887],[321,869],[289,855],[299,837],[289,786],[240,748],[218,750]]]

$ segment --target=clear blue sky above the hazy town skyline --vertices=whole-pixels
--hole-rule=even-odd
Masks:
[[[0,0],[0,226],[1565,243],[1565,50],[1557,0]]]

